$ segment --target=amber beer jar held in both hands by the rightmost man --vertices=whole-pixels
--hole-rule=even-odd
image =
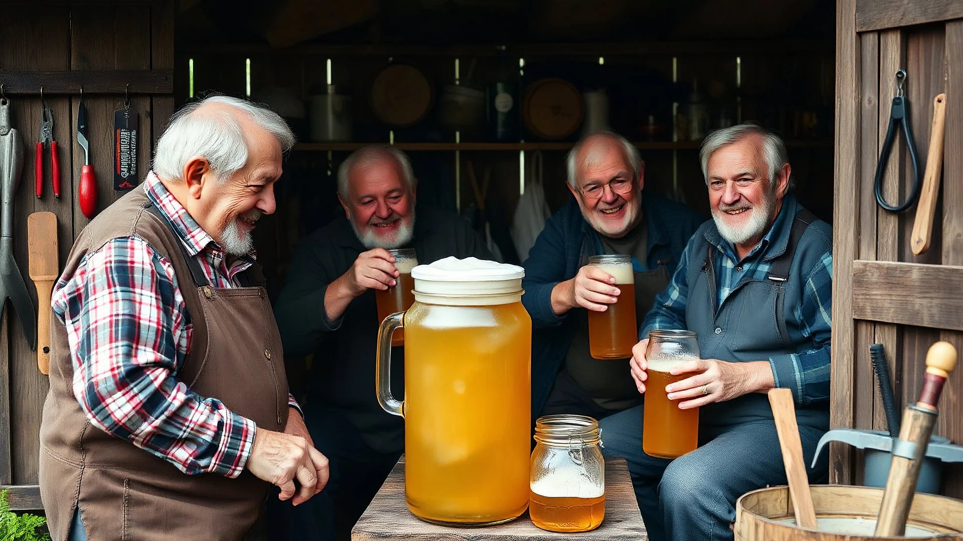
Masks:
[[[669,374],[672,367],[699,358],[698,335],[689,330],[649,333],[648,379],[642,408],[642,451],[649,456],[676,458],[695,451],[699,438],[699,408],[679,409],[681,400],[668,399],[665,386],[693,374]]]

